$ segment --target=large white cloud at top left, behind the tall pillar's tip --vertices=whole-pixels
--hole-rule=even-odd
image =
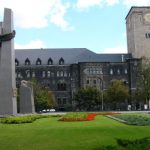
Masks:
[[[72,26],[65,20],[69,3],[62,0],[0,0],[0,14],[4,7],[14,12],[15,25],[21,28],[43,28],[51,22],[63,30]]]

